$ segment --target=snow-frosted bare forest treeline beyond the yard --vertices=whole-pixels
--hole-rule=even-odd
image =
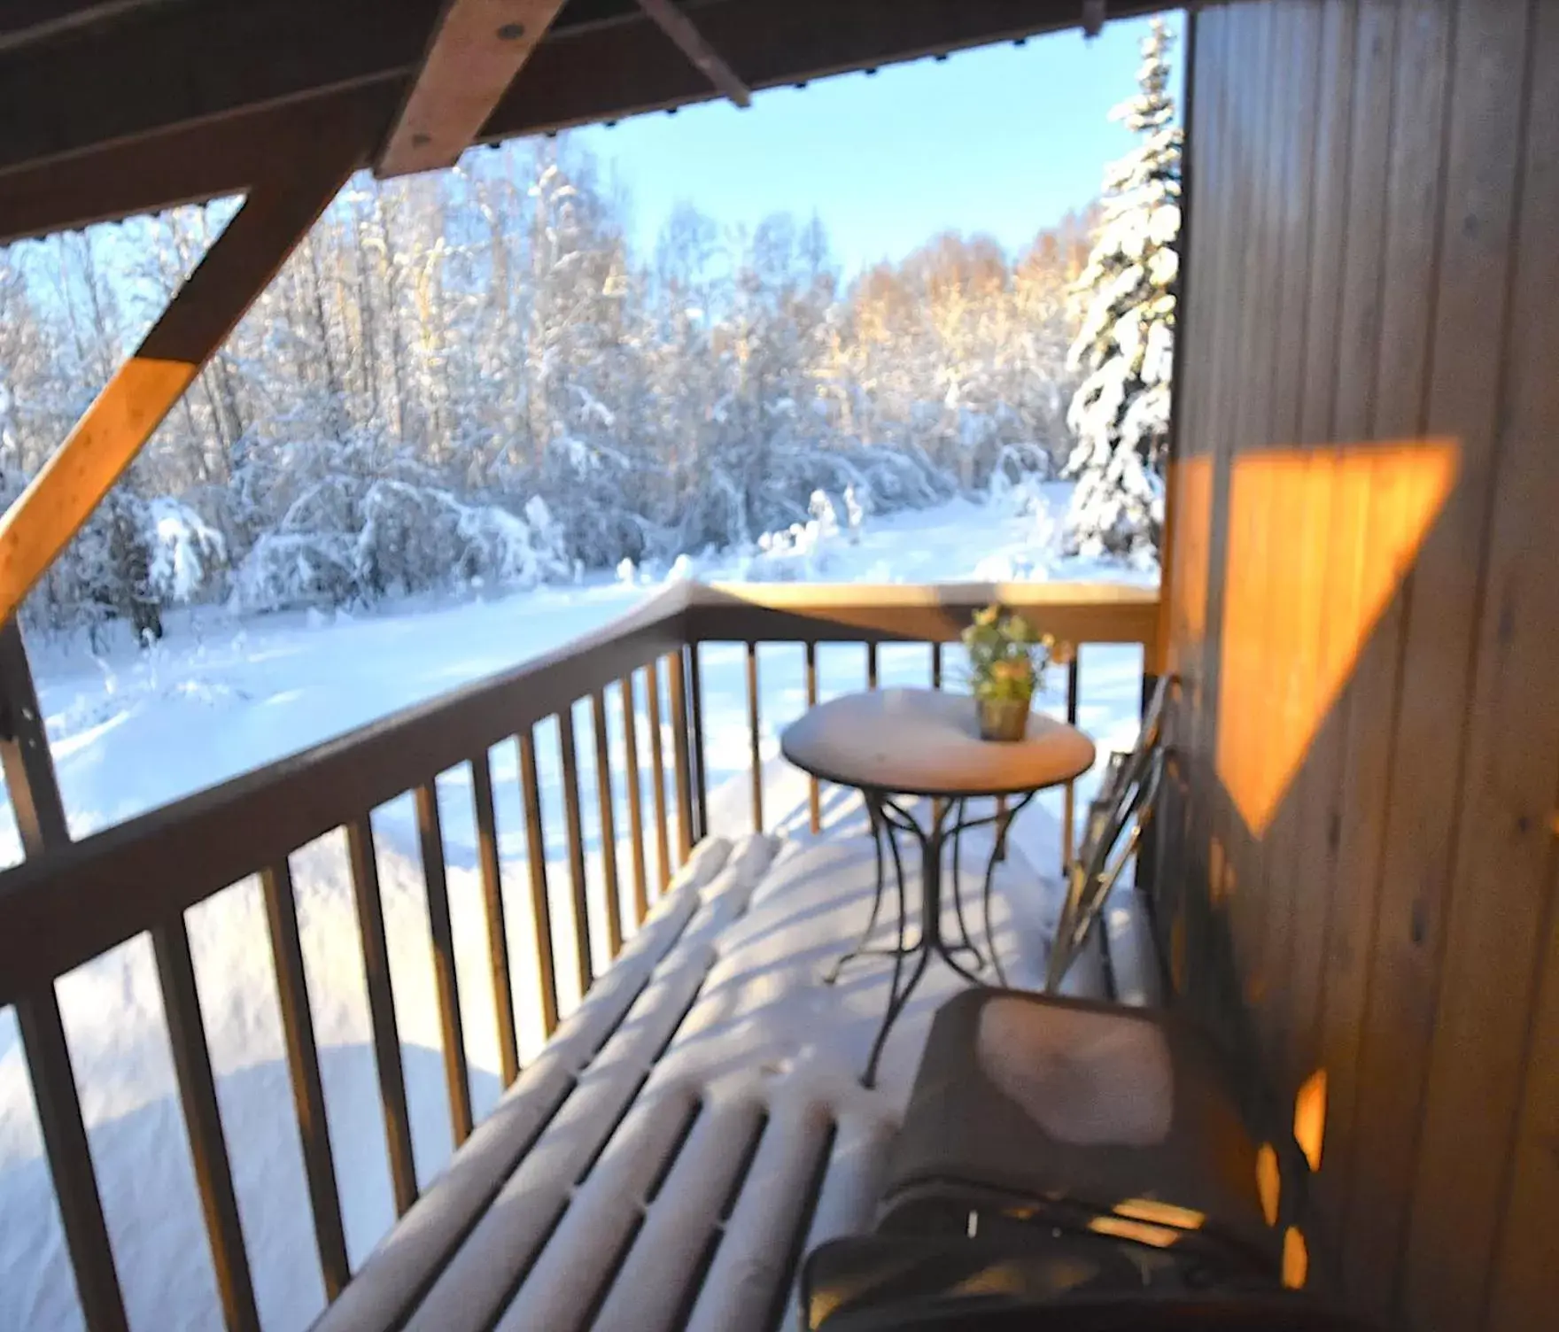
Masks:
[[[64,439],[234,201],[0,251],[0,502]],[[355,178],[28,601],[349,606],[747,545],[815,491],[870,511],[1048,474],[1071,442],[1091,217],[1020,254],[939,235],[843,280],[817,218],[650,254],[566,137]]]

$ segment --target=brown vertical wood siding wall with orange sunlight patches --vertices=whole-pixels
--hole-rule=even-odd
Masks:
[[[1559,3],[1191,22],[1175,964],[1325,1078],[1317,1281],[1551,1329]]]

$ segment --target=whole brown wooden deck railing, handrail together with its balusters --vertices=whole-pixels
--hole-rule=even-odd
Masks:
[[[616,957],[625,933],[642,922],[673,865],[709,830],[709,765],[700,647],[745,645],[750,787],[755,827],[764,823],[761,754],[762,704],[759,645],[804,647],[806,699],[818,693],[820,643],[865,645],[865,682],[878,682],[882,643],[931,645],[928,682],[942,684],[942,645],[956,640],[974,609],[990,600],[1023,609],[1057,640],[1151,643],[1157,597],[1115,586],[954,586],[954,587],[702,587],[683,584],[606,629],[558,651],[396,714],[302,754],[201,791],[189,799],[95,833],[64,840],[58,788],[47,756],[23,763],[8,757],[6,776],[19,823],[42,802],[55,807],[56,835],[25,838],[30,858],[0,876],[0,1006],[14,1005],[33,1083],[45,1153],[83,1310],[92,1327],[123,1327],[125,1313],[109,1251],[76,1080],[64,1042],[55,981],[133,938],[148,935],[162,994],[173,1067],[184,1112],[195,1182],[204,1214],[226,1324],[259,1326],[256,1299],[232,1184],[231,1143],[217,1108],[210,1050],[195,985],[186,913],[228,886],[259,876],[276,972],[281,1025],[293,1087],[309,1200],[327,1298],[351,1277],[343,1237],[340,1189],[326,1131],[320,1053],[302,963],[290,857],[340,830],[346,843],[352,897],[360,927],[368,1013],[384,1105],[390,1178],[398,1214],[416,1200],[412,1134],[401,1059],[401,1036],[390,985],[390,953],[371,812],[410,795],[427,893],[444,1077],[455,1143],[472,1129],[471,1073],[466,1066],[461,1000],[455,972],[454,927],[438,777],[469,768],[488,963],[497,1006],[502,1081],[519,1072],[516,1010],[535,1003],[541,1031],[558,1025],[552,897],[547,869],[547,818],[538,777],[536,729],[552,723],[561,771],[563,840],[572,914],[572,967],[578,991],[589,988],[596,957]],[[0,643],[0,648],[5,645]],[[1069,657],[1068,698],[1076,710],[1076,653]],[[0,667],[5,662],[0,659]],[[642,676],[649,734],[639,743],[638,696]],[[611,695],[616,693],[613,699]],[[663,695],[666,714],[663,715]],[[588,701],[594,732],[599,880],[605,897],[605,939],[592,939],[586,819],[580,796],[578,735],[574,707]],[[36,709],[36,701],[33,703]],[[620,710],[627,771],[613,763],[610,715]],[[670,793],[666,742],[670,738]],[[496,805],[511,795],[494,788],[490,749],[518,740],[519,805],[524,813],[536,992],[516,997],[510,975],[502,863]],[[642,751],[647,748],[647,754]],[[650,809],[644,809],[647,757]],[[622,918],[622,866],[617,791],[627,791],[627,874],[631,924]],[[645,849],[645,818],[653,860]],[[675,819],[675,843],[670,826]],[[811,823],[820,826],[815,785]],[[25,832],[25,829],[23,829]]]

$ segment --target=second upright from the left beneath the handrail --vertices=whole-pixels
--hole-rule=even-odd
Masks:
[[[182,914],[151,930],[151,955],[157,964],[162,1011],[168,1024],[173,1073],[184,1108],[195,1190],[206,1217],[206,1239],[217,1276],[223,1321],[229,1332],[259,1332],[260,1315],[254,1307],[249,1256],[243,1248],[239,1200],[232,1190],[232,1165],[217,1109],[217,1081],[210,1072],[210,1050],[195,989],[195,961]]]

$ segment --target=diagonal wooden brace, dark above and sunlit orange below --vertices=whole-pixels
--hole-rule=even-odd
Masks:
[[[287,171],[251,189],[167,310],[0,517],[0,620],[131,464],[254,298],[355,170],[371,126],[343,115],[296,143]]]

